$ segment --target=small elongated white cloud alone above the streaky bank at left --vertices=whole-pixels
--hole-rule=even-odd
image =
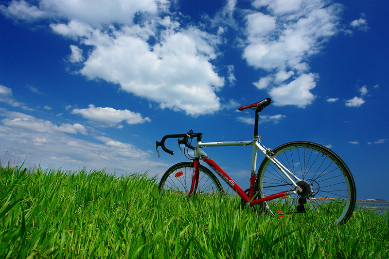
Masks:
[[[86,109],[73,109],[71,113],[79,114],[90,121],[97,121],[109,126],[114,126],[122,121],[126,121],[128,124],[151,121],[148,117],[142,118],[140,113],[129,110],[116,110],[110,107],[95,107],[93,104],[89,104],[89,108]]]

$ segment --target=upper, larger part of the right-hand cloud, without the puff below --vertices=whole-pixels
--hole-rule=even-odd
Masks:
[[[281,3],[277,0],[271,2]],[[306,57],[318,53],[322,44],[336,33],[337,5],[323,7],[323,3],[318,0],[303,1],[303,8],[300,9],[301,1],[295,4],[293,14],[287,16],[272,13],[272,4],[268,6],[276,26],[268,26],[270,22],[265,22],[265,35],[262,31],[254,29],[263,27],[262,19],[258,21],[251,19],[248,22],[246,28],[248,45],[244,57],[249,65],[261,69],[306,70],[307,65],[304,64]],[[260,17],[269,17],[261,12],[256,14]]]

